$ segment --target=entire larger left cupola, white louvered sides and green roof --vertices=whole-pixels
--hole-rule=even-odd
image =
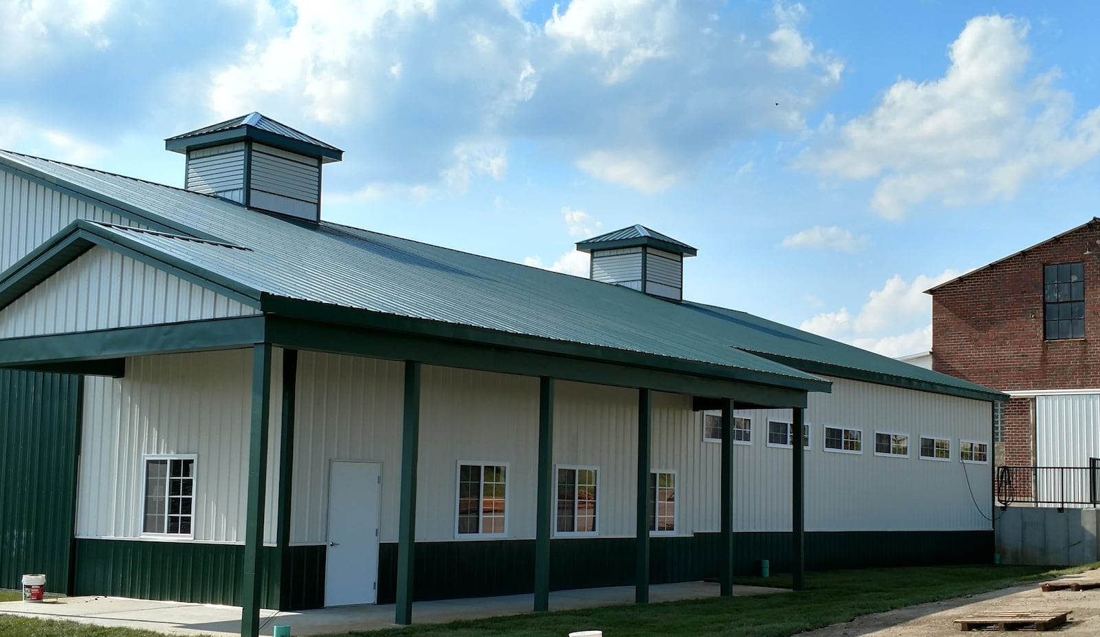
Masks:
[[[343,151],[260,113],[165,140],[187,155],[184,187],[310,221],[321,216],[321,166]]]

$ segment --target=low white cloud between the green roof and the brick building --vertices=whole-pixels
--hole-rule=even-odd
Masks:
[[[890,277],[872,290],[867,303],[853,314],[847,308],[822,312],[803,321],[801,329],[888,356],[901,356],[932,347],[932,297],[924,290],[958,276],[946,270],[935,276],[920,275],[912,282]]]

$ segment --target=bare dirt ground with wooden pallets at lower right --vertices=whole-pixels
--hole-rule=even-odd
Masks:
[[[1091,579],[1100,571],[1090,571]],[[1050,591],[1044,593],[1038,583],[993,591],[959,600],[947,600],[919,606],[908,606],[888,613],[858,617],[854,622],[834,624],[817,630],[800,633],[799,637],[946,637],[959,636],[960,619],[971,613],[1021,613],[1026,611],[1072,611],[1069,622],[1044,635],[1100,635],[1100,589],[1091,591]],[[996,630],[996,629],[994,629]],[[1025,629],[1034,633],[1034,629]],[[971,630],[977,635],[983,631]]]

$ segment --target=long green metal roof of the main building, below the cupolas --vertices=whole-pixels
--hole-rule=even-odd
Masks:
[[[584,355],[617,350],[640,355],[645,364],[689,361],[732,378],[807,391],[827,392],[828,383],[814,374],[828,374],[1003,398],[972,383],[736,310],[669,303],[622,286],[348,226],[292,221],[179,188],[0,151],[0,168],[4,166],[160,229],[79,221],[51,243],[59,244],[75,231],[117,242],[258,298],[268,311],[312,305],[332,308],[333,316],[359,311],[353,316],[362,320],[395,317],[406,321],[402,325],[462,326],[482,334],[595,348],[595,354],[584,350],[590,352]],[[0,289],[33,267],[35,259],[47,261],[50,249],[40,248],[0,274]],[[57,265],[56,259],[50,263]],[[318,316],[323,320],[324,312]]]

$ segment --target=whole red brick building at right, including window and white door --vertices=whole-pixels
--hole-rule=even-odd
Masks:
[[[1100,457],[1100,218],[938,285],[933,369],[1005,392],[997,464]]]

